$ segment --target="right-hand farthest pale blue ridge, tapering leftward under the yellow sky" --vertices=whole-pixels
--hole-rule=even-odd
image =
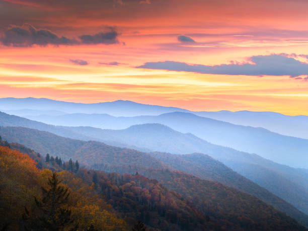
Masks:
[[[233,124],[263,127],[282,135],[308,139],[308,116],[287,116],[276,112],[194,112],[198,116]]]

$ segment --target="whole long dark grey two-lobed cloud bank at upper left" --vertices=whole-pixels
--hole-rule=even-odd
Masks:
[[[30,47],[33,45],[75,45],[75,44],[115,44],[119,43],[119,33],[113,27],[108,27],[106,32],[95,35],[82,35],[80,41],[59,37],[47,29],[36,29],[26,23],[23,26],[11,26],[0,37],[0,42],[5,46]]]

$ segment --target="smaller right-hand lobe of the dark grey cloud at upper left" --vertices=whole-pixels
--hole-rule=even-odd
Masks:
[[[118,32],[113,27],[108,28],[109,31],[101,32],[95,35],[82,35],[80,40],[83,44],[116,44],[118,41]]]

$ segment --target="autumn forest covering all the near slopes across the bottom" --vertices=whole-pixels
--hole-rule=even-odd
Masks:
[[[122,166],[136,172],[108,173],[18,143],[1,145],[3,230],[305,230],[254,196],[179,171]],[[62,197],[51,219],[46,195],[54,176]]]

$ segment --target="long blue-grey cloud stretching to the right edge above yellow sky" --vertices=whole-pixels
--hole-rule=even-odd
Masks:
[[[281,54],[252,56],[248,61],[214,66],[174,61],[146,62],[137,68],[229,75],[289,75],[291,78],[308,74],[307,63]]]

